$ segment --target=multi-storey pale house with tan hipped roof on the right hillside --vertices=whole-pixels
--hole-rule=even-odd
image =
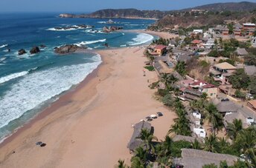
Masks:
[[[235,72],[235,70],[237,70],[237,67],[234,67],[227,62],[223,62],[211,67],[210,74],[214,77],[215,81],[219,81],[221,84],[229,84],[228,78]]]

